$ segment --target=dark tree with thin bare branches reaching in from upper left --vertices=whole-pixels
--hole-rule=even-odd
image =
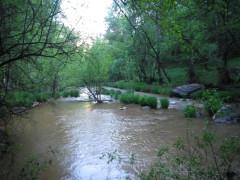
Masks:
[[[0,2],[0,68],[74,51],[76,38],[59,22],[59,6],[60,0]]]

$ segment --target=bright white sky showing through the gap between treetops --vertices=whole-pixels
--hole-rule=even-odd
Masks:
[[[106,31],[105,17],[112,0],[62,0],[62,20],[84,38],[96,38]]]

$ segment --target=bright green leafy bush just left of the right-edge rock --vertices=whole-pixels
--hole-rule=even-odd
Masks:
[[[210,116],[213,116],[223,105],[223,98],[216,90],[206,90],[202,94],[204,107]]]

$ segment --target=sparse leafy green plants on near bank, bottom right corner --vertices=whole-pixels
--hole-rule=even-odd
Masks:
[[[239,137],[226,138],[216,145],[217,137],[211,131],[204,130],[200,135],[189,134],[188,139],[187,142],[178,139],[171,152],[169,147],[162,147],[157,163],[149,171],[143,172],[141,179],[240,178],[234,165],[239,163],[240,158]]]

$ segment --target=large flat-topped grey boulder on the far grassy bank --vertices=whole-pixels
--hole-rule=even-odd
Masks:
[[[186,84],[182,86],[177,86],[175,89],[171,91],[171,97],[187,97],[190,94],[204,89],[204,86],[201,84]]]

